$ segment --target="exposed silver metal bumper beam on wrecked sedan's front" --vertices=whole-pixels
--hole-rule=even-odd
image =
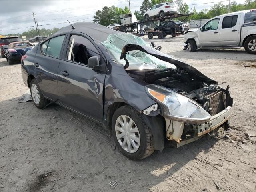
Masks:
[[[226,122],[232,113],[234,112],[234,104],[232,107],[228,106],[226,109],[221,111],[220,113],[212,116],[210,120],[204,124],[200,124],[198,126],[198,133],[196,134],[197,137],[200,137],[211,130],[214,130],[218,127],[220,127],[224,122]]]

